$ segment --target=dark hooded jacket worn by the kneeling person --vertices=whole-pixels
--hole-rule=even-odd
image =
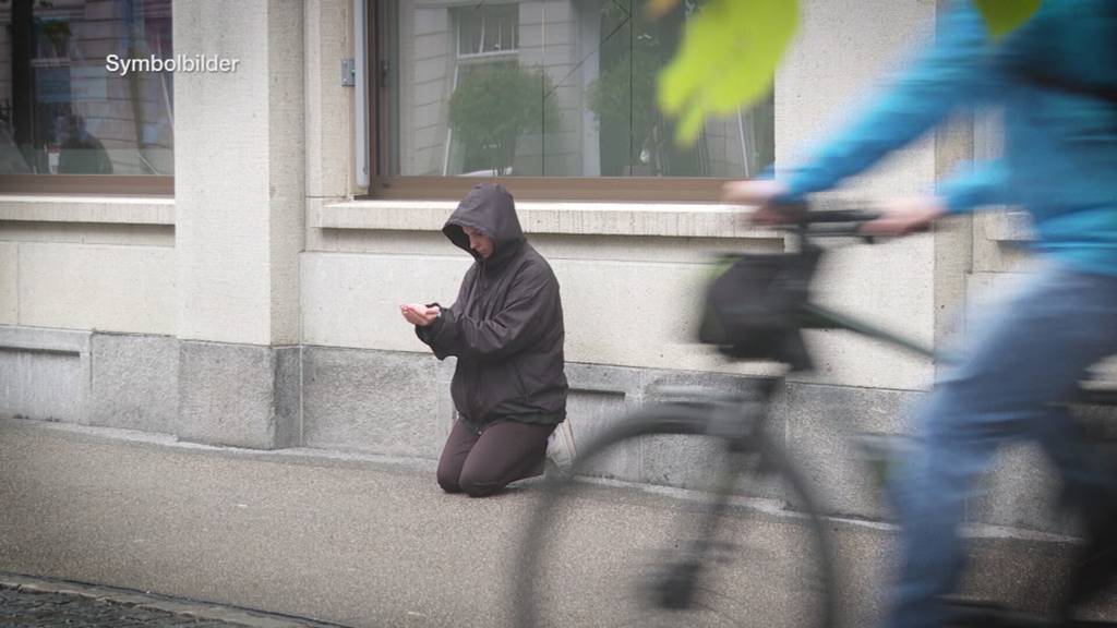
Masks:
[[[469,248],[462,227],[493,240],[488,259]],[[419,339],[443,360],[458,359],[450,393],[475,427],[497,420],[556,425],[566,417],[562,299],[558,280],[524,238],[512,194],[474,185],[442,227],[474,256],[458,298]]]

